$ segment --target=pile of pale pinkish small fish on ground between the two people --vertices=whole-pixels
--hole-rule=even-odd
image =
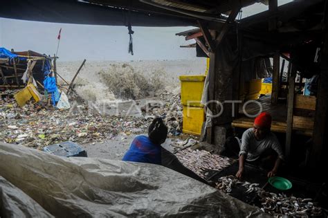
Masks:
[[[193,150],[190,147],[176,153],[176,157],[190,170],[205,178],[207,170],[222,170],[231,165],[229,158],[211,154],[206,150]]]

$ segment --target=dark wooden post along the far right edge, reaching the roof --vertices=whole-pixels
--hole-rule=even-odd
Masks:
[[[325,3],[325,16],[322,21],[324,44],[320,62],[320,79],[318,84],[316,115],[313,127],[313,147],[309,158],[312,169],[322,170],[327,167],[327,140],[328,140],[328,2]],[[325,150],[326,149],[326,150]],[[326,159],[325,159],[326,158]],[[320,165],[324,163],[324,165]]]

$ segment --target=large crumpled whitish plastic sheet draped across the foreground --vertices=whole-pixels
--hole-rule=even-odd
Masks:
[[[3,143],[0,163],[0,176],[55,217],[265,216],[259,208],[160,165],[62,158]]]

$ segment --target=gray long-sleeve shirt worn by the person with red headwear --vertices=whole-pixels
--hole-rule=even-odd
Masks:
[[[284,154],[282,153],[282,147],[275,134],[270,132],[262,140],[255,138],[253,128],[249,128],[244,131],[242,136],[242,145],[240,146],[239,156],[244,154],[247,161],[255,161],[259,156],[267,149],[273,149],[277,152],[277,156],[284,160]]]

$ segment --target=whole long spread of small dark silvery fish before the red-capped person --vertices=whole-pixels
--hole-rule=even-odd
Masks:
[[[259,188],[258,183],[239,181],[235,176],[222,176],[216,183],[216,188],[230,194],[236,185],[246,188],[246,194],[256,192],[261,203],[259,208],[270,215],[289,215],[289,216],[320,216],[322,208],[315,206],[312,199],[302,199],[286,194],[275,194],[266,192]]]

